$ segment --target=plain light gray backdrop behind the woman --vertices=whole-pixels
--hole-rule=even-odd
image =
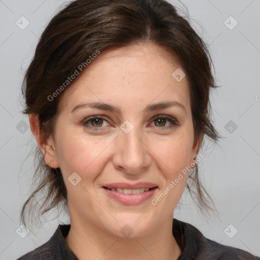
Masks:
[[[191,25],[209,44],[217,84],[222,85],[211,96],[213,119],[226,138],[214,147],[209,144],[203,151],[205,158],[199,163],[219,215],[205,219],[189,196],[182,199],[183,205],[174,215],[195,225],[212,240],[260,256],[260,2],[181,2],[189,10]],[[20,113],[20,85],[38,37],[62,3],[61,0],[0,0],[0,259],[16,259],[35,249],[49,240],[59,220],[69,222],[68,217],[61,216],[43,223],[36,235],[21,238],[16,233],[33,174],[32,157],[25,158],[35,144],[30,129],[26,128],[28,119]],[[29,21],[24,29],[16,25],[21,16]],[[234,28],[235,20],[230,16],[238,22]],[[235,229],[238,233],[233,238],[226,235],[233,236]]]

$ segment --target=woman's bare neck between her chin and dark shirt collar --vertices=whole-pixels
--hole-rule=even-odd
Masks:
[[[71,216],[71,229],[65,241],[79,260],[110,260],[122,256],[125,260],[174,260],[181,254],[172,234],[172,217],[146,236],[121,238],[86,220],[74,221]]]

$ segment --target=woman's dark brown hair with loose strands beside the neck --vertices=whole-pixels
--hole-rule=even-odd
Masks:
[[[97,50],[135,43],[156,44],[178,57],[189,82],[194,142],[200,133],[214,142],[218,140],[220,136],[210,119],[209,93],[217,87],[212,60],[203,40],[175,7],[164,0],[76,0],[59,11],[45,28],[22,84],[23,113],[39,115],[42,142],[53,133],[62,92],[52,101],[48,97],[75,73],[79,64],[86,65],[86,59]],[[22,207],[23,224],[26,212],[35,213],[37,206],[41,215],[59,205],[68,210],[60,169],[46,165],[38,146],[36,161],[34,178],[39,179],[38,186]],[[191,172],[189,192],[197,197],[200,209],[211,209],[210,197],[199,181],[198,166]],[[43,191],[44,202],[39,204],[36,198]]]

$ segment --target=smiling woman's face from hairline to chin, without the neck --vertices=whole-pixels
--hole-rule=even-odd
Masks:
[[[172,218],[199,148],[180,72],[164,49],[134,45],[101,51],[64,90],[49,165],[61,169],[72,221],[138,237]]]

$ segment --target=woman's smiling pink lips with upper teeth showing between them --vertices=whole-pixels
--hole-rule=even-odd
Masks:
[[[153,183],[139,182],[110,183],[102,187],[108,196],[124,205],[137,205],[152,197],[153,192],[158,188]]]

